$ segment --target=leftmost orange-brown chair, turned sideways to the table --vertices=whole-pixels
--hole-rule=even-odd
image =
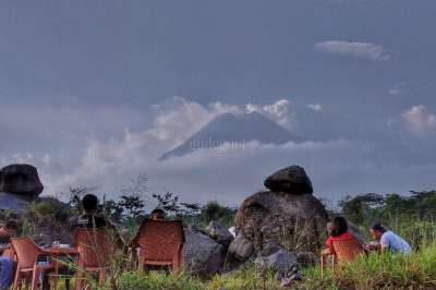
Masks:
[[[11,244],[19,262],[13,289],[21,289],[23,281],[28,286],[31,281],[31,289],[36,290],[38,288],[39,275],[43,270],[53,269],[51,263],[47,266],[38,265],[38,257],[49,254],[37,246],[28,237],[11,239]]]

